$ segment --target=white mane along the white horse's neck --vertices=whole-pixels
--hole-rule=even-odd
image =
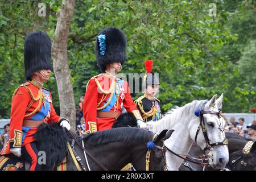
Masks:
[[[164,117],[158,122],[147,122],[147,125],[152,127],[151,131],[160,133],[160,131],[164,129],[170,129],[176,125],[177,122],[187,119],[188,115],[191,115],[192,117],[195,116],[195,110],[201,109],[201,106],[207,101],[208,100],[194,100],[182,107],[176,106],[175,108],[168,110],[167,113],[164,114]]]

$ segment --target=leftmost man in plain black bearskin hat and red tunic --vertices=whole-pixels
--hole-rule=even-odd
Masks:
[[[51,92],[43,88],[52,70],[51,39],[45,32],[32,32],[26,37],[24,67],[27,82],[13,93],[10,139],[0,155],[22,156],[31,163],[31,171],[42,170],[38,164],[38,143],[34,139],[38,127],[54,122],[70,130],[69,121],[56,114]]]

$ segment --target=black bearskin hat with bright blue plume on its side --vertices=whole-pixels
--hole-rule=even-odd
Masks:
[[[98,33],[95,42],[97,65],[105,72],[106,65],[126,60],[126,37],[117,27],[108,27]]]

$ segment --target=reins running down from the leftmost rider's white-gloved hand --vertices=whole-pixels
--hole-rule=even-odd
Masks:
[[[90,156],[90,158],[92,158],[94,160],[94,162],[96,162],[98,164],[98,166],[100,166],[102,169],[104,169],[104,171],[109,171],[106,167],[104,167],[100,162],[98,162],[98,160],[96,158],[94,158],[94,156],[92,154],[90,154],[90,152],[88,150],[86,150],[84,147],[82,147],[79,143],[79,141],[76,139],[76,136],[73,135],[70,131],[68,131],[67,129],[65,129],[65,131],[68,133],[68,135],[73,139],[73,141],[76,142],[76,144],[82,149],[84,150],[84,152]],[[75,142],[72,142],[72,145],[75,144]],[[74,152],[75,150],[73,150]],[[85,167],[84,164],[81,161],[81,158],[76,154],[76,152],[74,152],[74,154],[76,155],[76,159],[79,161],[82,169],[85,171]]]

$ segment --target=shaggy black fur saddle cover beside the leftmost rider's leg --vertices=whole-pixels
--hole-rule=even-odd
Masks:
[[[60,164],[67,154],[68,136],[57,123],[43,123],[36,131],[34,138],[38,142],[39,151],[46,152],[46,167],[52,168]]]

